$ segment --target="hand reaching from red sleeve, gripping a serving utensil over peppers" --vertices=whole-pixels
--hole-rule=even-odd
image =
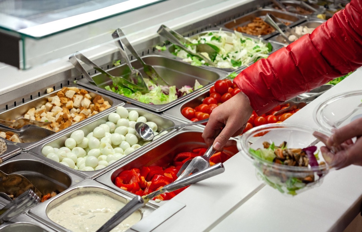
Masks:
[[[223,150],[224,146],[230,146],[232,141],[228,141],[229,138],[243,132],[252,112],[248,97],[241,92],[216,107],[211,112],[202,133],[206,145],[210,146],[213,143],[217,151]],[[223,130],[220,132],[222,127]],[[215,138],[219,132],[220,134]]]

